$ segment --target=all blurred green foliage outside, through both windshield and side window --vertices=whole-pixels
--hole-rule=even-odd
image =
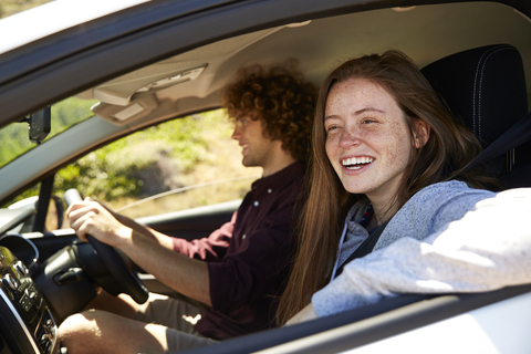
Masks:
[[[90,107],[95,102],[70,97],[53,105],[52,132],[43,144],[92,116]],[[62,197],[65,190],[77,188],[84,196],[106,201],[137,197],[145,183],[138,176],[153,168],[162,156],[175,162],[181,174],[191,173],[197,164],[208,159],[206,127],[219,136],[230,135],[230,128],[219,124],[221,119],[226,119],[225,112],[218,110],[177,118],[121,138],[62,168],[55,175],[54,192]],[[13,123],[0,129],[0,139],[9,142],[0,147],[0,166],[37,146],[29,142],[27,123]],[[6,205],[38,194],[39,186],[34,186]]]

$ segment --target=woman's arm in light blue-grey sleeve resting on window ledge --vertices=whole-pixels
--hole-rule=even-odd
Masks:
[[[319,316],[399,293],[482,292],[531,282],[531,189],[481,200],[424,240],[402,238],[352,261],[316,292]]]

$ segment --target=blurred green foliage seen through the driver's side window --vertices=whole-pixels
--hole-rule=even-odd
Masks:
[[[55,175],[56,194],[77,188],[84,196],[106,201],[138,196],[145,183],[139,173],[153,168],[160,156],[175,160],[179,171],[190,173],[207,158],[202,127],[216,126],[223,117],[221,111],[214,111],[177,118],[92,152]]]

